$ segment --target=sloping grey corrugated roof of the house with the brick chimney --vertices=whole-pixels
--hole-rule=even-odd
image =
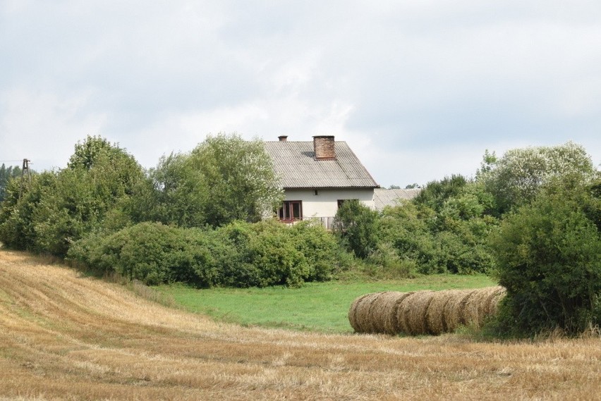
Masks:
[[[313,142],[265,142],[284,188],[379,187],[343,141],[335,142],[336,160],[315,160]]]

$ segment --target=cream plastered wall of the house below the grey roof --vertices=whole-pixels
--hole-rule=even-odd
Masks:
[[[303,202],[303,218],[333,217],[338,211],[339,199],[359,199],[365,206],[375,208],[374,190],[285,190],[285,200]]]

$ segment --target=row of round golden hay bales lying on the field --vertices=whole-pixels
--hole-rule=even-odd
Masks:
[[[497,313],[502,287],[478,290],[375,292],[358,297],[348,311],[357,333],[440,334],[461,325],[480,327]]]

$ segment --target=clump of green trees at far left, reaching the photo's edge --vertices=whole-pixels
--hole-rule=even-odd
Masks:
[[[8,246],[65,256],[73,242],[103,228],[128,224],[119,205],[144,173],[133,156],[101,137],[75,145],[68,167],[44,172],[23,193],[11,189],[0,211],[0,237]]]

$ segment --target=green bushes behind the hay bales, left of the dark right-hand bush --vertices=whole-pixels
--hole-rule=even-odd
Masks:
[[[474,195],[472,183],[439,211],[420,202],[405,202],[384,209],[378,224],[378,246],[389,244],[403,261],[412,261],[417,273],[486,273],[494,260],[487,236],[497,220],[485,216],[485,204]],[[382,252],[378,250],[377,254]],[[373,258],[371,258],[373,259]]]

